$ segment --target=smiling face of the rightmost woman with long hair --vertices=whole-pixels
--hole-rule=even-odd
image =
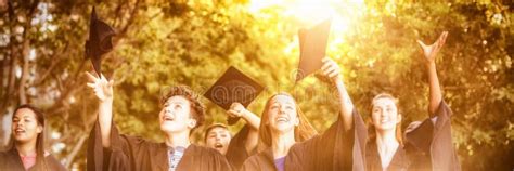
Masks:
[[[398,114],[395,101],[383,97],[373,102],[372,119],[377,130],[394,131],[401,121],[401,115]]]

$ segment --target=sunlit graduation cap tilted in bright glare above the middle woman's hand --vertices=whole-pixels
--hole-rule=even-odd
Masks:
[[[321,60],[325,56],[330,26],[331,19],[326,19],[312,28],[304,28],[298,31],[300,60],[296,82],[321,69]]]

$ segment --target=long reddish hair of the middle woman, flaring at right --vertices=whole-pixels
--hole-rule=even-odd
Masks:
[[[271,128],[267,123],[268,120],[269,120],[268,108],[271,106],[271,100],[273,100],[278,95],[290,96],[294,101],[294,97],[291,94],[285,93],[285,92],[280,92],[280,93],[277,93],[277,94],[272,95],[266,102],[265,109],[264,109],[262,115],[260,117],[261,121],[260,121],[260,128],[259,128],[259,140],[260,140],[260,143],[262,143],[262,145],[265,145],[267,147],[271,146],[271,139],[272,139],[271,137]],[[308,140],[308,139],[312,137],[313,135],[318,134],[318,132],[314,130],[314,128],[309,123],[307,118],[304,116],[304,114],[301,113],[301,110],[300,110],[298,104],[296,103],[296,101],[295,101],[295,106],[296,106],[296,114],[297,114],[297,117],[299,119],[299,124],[297,127],[295,127],[295,130],[294,130],[295,131],[295,141],[296,142],[303,142],[303,141]]]

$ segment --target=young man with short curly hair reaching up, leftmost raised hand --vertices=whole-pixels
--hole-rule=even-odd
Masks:
[[[113,80],[87,73],[88,86],[100,101],[99,116],[88,143],[88,170],[230,171],[216,149],[192,144],[191,132],[202,124],[204,107],[188,87],[172,87],[156,115],[165,142],[120,134],[113,121]]]

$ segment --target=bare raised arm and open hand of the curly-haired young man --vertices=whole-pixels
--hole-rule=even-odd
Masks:
[[[113,83],[114,80],[107,81],[102,75],[100,78],[86,73],[91,82],[88,82],[94,91],[94,95],[99,98],[99,124],[102,136],[103,147],[111,146],[111,124],[113,121]]]

